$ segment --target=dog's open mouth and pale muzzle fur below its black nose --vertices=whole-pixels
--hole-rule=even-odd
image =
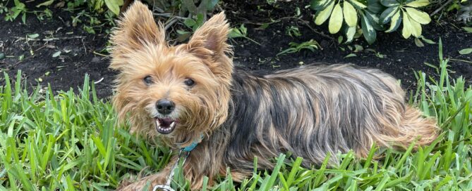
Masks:
[[[155,104],[148,104],[145,110],[149,113],[150,119],[154,121],[155,130],[162,135],[170,135],[178,127],[181,108],[176,107],[170,114],[160,114],[157,112]]]

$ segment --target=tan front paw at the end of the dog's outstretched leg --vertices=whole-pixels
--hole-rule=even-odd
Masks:
[[[152,190],[155,185],[164,184],[166,182],[167,176],[163,173],[157,173],[155,175],[146,176],[141,178],[135,183],[130,183],[129,181],[124,181],[119,185],[116,190],[119,191],[142,191],[142,190]]]

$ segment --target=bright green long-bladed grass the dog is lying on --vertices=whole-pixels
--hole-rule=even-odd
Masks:
[[[241,184],[220,178],[209,190],[472,190],[472,87],[450,79],[440,53],[439,79],[417,73],[418,91],[410,103],[436,116],[442,134],[428,147],[399,152],[373,147],[367,159],[340,154],[302,168],[301,158],[281,154],[272,171],[255,171]],[[31,94],[5,75],[0,87],[0,190],[113,190],[131,174],[156,173],[173,154],[159,141],[144,140],[116,124],[111,104],[95,96],[85,78],[78,94]],[[375,156],[381,155],[377,159]],[[256,164],[257,162],[255,162]],[[188,190],[176,173],[174,187]],[[206,179],[207,180],[207,179]]]

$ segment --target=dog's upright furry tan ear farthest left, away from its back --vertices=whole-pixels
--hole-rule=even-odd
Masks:
[[[124,54],[143,48],[146,44],[164,44],[165,32],[162,25],[156,25],[152,11],[140,1],[135,1],[118,20],[118,26],[111,34],[111,57],[120,59]],[[111,62],[113,69],[119,65]]]

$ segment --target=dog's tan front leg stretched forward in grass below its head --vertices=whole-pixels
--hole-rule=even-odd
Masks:
[[[167,176],[169,176],[169,173],[172,169],[172,166],[174,166],[176,162],[176,157],[172,158],[167,164],[167,166],[159,171],[159,173],[153,174],[151,176],[146,176],[144,178],[141,178],[137,182],[131,183],[131,184],[122,184],[120,185],[116,190],[120,191],[140,191],[143,190],[147,185],[149,185],[148,190],[152,190],[155,185],[159,184],[165,184],[167,180]]]

